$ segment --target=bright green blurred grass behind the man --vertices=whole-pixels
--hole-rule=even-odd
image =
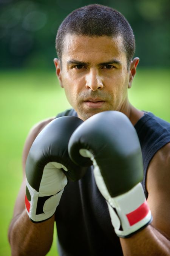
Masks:
[[[129,90],[131,103],[170,122],[169,81],[166,69],[139,69]],[[0,72],[0,256],[11,255],[7,231],[22,181],[21,156],[29,129],[69,107],[55,71]],[[53,255],[58,255],[56,231],[48,253]]]

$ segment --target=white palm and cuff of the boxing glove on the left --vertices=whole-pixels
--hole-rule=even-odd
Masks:
[[[49,162],[45,165],[39,192],[32,188],[28,181],[26,181],[26,186],[31,196],[30,201],[25,198],[26,211],[32,221],[39,222],[46,220],[55,213],[64,187],[67,184],[67,178],[61,168],[67,171],[65,166],[57,162]],[[43,213],[36,214],[37,207],[39,207],[38,199],[44,196],[49,196],[49,198],[43,204]]]

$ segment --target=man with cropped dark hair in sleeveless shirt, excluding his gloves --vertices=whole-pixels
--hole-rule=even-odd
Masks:
[[[89,5],[66,17],[57,33],[59,59],[54,59],[54,64],[73,110],[57,117],[78,116],[86,122],[107,110],[128,117],[141,143],[142,184],[153,221],[128,238],[117,237],[90,170],[65,187],[52,217],[32,223],[24,205],[26,159],[40,131],[54,122],[55,118],[50,118],[34,126],[26,139],[23,183],[9,227],[12,255],[46,255],[55,220],[60,255],[170,255],[170,124],[128,101],[127,90],[139,63],[139,58],[133,59],[134,48],[130,25],[112,8]]]

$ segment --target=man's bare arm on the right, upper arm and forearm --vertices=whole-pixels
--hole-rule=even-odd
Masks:
[[[125,256],[170,255],[170,143],[150,162],[147,190],[153,222],[132,237],[121,238]]]

